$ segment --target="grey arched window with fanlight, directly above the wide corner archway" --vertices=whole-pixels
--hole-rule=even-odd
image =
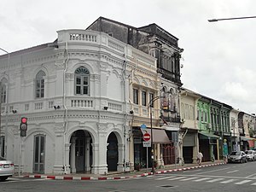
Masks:
[[[89,95],[90,72],[85,67],[79,67],[75,71],[75,95]]]

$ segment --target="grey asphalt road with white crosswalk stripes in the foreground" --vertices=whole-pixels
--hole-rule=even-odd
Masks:
[[[256,162],[208,166],[182,172],[121,180],[76,181],[9,178],[1,192],[166,192],[166,191],[256,191]]]

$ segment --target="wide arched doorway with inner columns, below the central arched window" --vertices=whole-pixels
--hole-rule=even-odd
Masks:
[[[90,132],[74,131],[70,139],[71,172],[90,172],[92,164],[92,139]]]

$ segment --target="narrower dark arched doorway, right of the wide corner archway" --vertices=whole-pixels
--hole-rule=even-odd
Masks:
[[[108,137],[107,164],[108,172],[117,171],[119,160],[118,139],[112,132]]]

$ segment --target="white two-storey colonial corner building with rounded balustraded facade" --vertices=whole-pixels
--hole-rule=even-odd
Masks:
[[[21,172],[123,171],[131,132],[126,63],[135,48],[103,32],[57,33],[54,43],[0,56],[1,154]]]

